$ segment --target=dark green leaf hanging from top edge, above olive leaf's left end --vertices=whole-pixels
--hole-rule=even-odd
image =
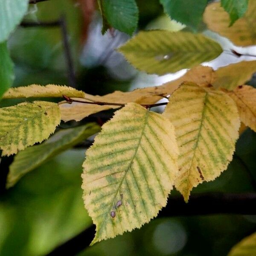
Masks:
[[[103,32],[108,26],[104,25],[104,17],[113,28],[129,35],[137,28],[139,10],[135,0],[103,0],[102,6]]]

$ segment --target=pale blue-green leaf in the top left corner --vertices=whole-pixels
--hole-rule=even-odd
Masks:
[[[28,9],[28,0],[0,1],[0,42],[5,41]]]

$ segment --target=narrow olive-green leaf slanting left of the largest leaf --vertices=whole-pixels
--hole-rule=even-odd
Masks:
[[[79,142],[100,131],[100,126],[94,123],[58,131],[49,140],[40,145],[34,145],[18,152],[10,165],[7,177],[7,188],[20,180],[23,175],[32,171],[42,163],[57,154],[72,148]]]

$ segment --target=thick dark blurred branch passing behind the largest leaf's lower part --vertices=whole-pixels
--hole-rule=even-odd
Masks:
[[[170,216],[191,216],[209,214],[245,214],[255,215],[256,193],[231,194],[231,193],[202,193],[194,194],[185,203],[182,196],[170,196],[168,204],[163,208],[157,218]],[[89,246],[95,233],[95,225],[82,231],[77,236],[56,247],[49,253],[53,255],[65,255],[72,251],[77,254]]]

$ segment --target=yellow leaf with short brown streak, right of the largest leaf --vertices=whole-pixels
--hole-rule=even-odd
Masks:
[[[163,113],[175,126],[180,149],[175,187],[188,201],[190,191],[227,169],[239,137],[240,120],[226,93],[184,83]]]

